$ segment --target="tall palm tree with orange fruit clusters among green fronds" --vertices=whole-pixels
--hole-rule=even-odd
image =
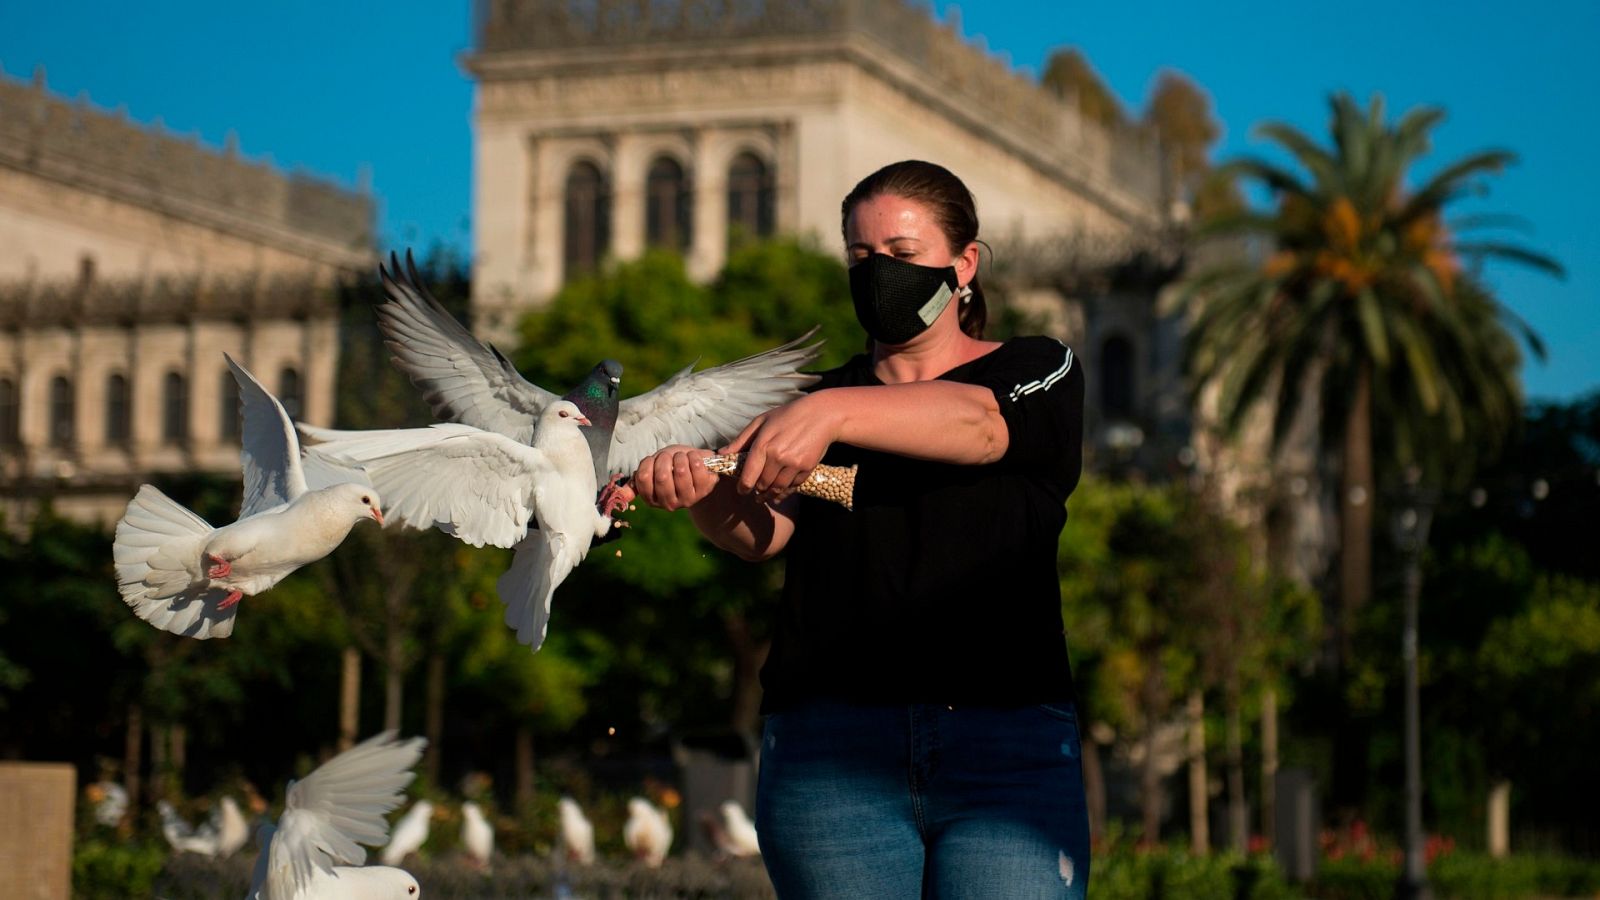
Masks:
[[[1365,110],[1347,94],[1331,106],[1331,147],[1280,123],[1258,130],[1302,173],[1261,159],[1219,170],[1266,186],[1275,208],[1226,215],[1200,234],[1264,239],[1272,251],[1210,267],[1179,298],[1190,317],[1190,384],[1216,391],[1226,432],[1270,404],[1277,452],[1301,405],[1320,405],[1318,442],[1339,468],[1342,665],[1352,617],[1371,594],[1374,456],[1440,477],[1493,452],[1522,410],[1514,335],[1544,352],[1474,269],[1486,258],[1555,275],[1562,267],[1523,247],[1458,237],[1504,216],[1443,216],[1514,162],[1510,152],[1472,154],[1413,191],[1408,170],[1443,112],[1416,109],[1390,125],[1378,96]]]

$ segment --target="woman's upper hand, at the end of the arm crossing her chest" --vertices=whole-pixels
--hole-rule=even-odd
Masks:
[[[720,450],[746,453],[739,464],[741,493],[778,501],[811,477],[838,437],[838,416],[824,394],[806,394],[755,416]]]

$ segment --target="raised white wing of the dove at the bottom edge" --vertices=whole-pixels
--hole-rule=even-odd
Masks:
[[[298,897],[315,870],[365,863],[362,844],[376,847],[389,838],[384,814],[400,806],[426,743],[384,732],[290,785],[267,850],[266,895]]]

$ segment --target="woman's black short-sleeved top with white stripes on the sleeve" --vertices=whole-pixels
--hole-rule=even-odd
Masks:
[[[1056,543],[1083,464],[1083,372],[1053,338],[1014,338],[941,381],[994,391],[1010,432],[986,466],[834,444],[861,464],[854,511],[802,496],[766,713],[800,700],[1016,706],[1072,700]],[[866,356],[813,391],[882,384]]]

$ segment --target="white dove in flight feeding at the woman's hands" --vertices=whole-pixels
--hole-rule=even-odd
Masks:
[[[594,463],[579,431],[586,424],[574,404],[557,400],[539,413],[531,447],[467,424],[392,431],[302,424],[301,432],[312,442],[307,460],[366,477],[389,498],[390,520],[437,525],[472,546],[515,546],[496,585],[506,625],[538,650],[555,588],[614,525],[595,509]]]

